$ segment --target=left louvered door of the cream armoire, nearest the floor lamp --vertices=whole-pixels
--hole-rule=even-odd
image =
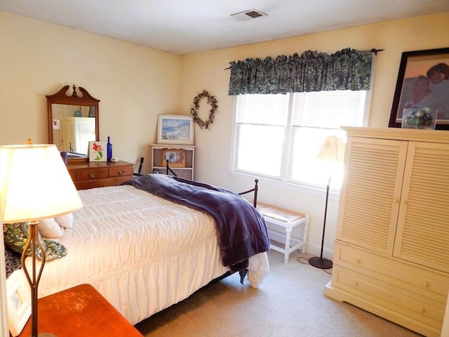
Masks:
[[[407,145],[348,138],[337,239],[391,256]]]

